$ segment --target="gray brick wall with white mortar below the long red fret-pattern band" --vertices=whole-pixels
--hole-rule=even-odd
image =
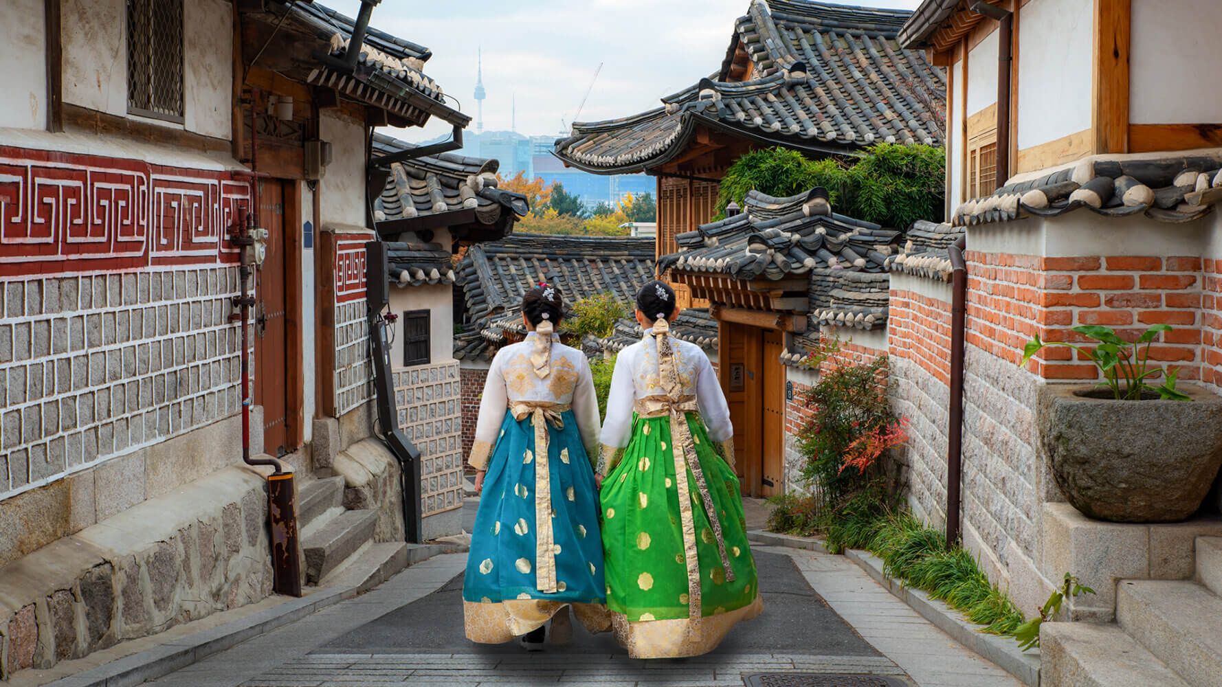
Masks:
[[[0,287],[0,500],[241,407],[237,268]]]

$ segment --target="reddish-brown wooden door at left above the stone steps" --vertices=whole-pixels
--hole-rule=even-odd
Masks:
[[[263,451],[282,456],[288,443],[287,260],[285,188],[259,181],[259,226],[268,230],[254,308],[254,403],[263,407]],[[258,450],[258,446],[253,449]]]

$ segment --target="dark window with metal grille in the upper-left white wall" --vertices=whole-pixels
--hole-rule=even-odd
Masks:
[[[182,121],[182,0],[127,0],[127,111]]]

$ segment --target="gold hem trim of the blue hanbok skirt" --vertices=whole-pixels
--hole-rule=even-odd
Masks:
[[[572,606],[573,615],[589,632],[611,630],[611,614],[600,604],[574,604],[546,599],[511,599],[499,603],[463,600],[463,630],[479,644],[503,644],[543,627],[556,614]]]

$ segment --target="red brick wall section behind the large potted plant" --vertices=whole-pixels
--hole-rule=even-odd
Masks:
[[[1097,324],[1132,341],[1151,324],[1165,323],[1174,331],[1151,346],[1150,359],[1179,367],[1180,379],[1200,378],[1200,258],[1039,258],[971,251],[967,257],[970,345],[1017,364],[1035,332],[1045,341],[1089,342],[1070,329]],[[1097,378],[1090,361],[1069,348],[1045,348],[1029,369],[1045,379]]]

